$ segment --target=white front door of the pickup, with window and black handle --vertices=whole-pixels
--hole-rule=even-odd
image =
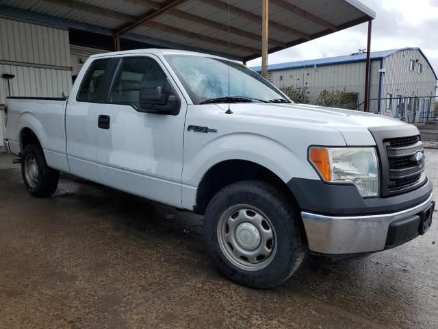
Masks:
[[[181,206],[183,130],[187,103],[155,56],[117,58],[110,93],[99,107],[97,163],[103,184]],[[170,84],[170,85],[167,85]],[[171,87],[176,115],[141,112],[140,90]]]

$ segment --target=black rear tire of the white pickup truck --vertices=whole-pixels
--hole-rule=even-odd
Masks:
[[[36,164],[33,171],[34,175],[31,176],[36,177],[35,180],[29,178],[31,174],[26,174],[29,161]],[[27,191],[33,197],[50,197],[55,193],[60,178],[58,171],[47,166],[44,152],[40,145],[36,144],[27,145],[21,154],[21,175]]]

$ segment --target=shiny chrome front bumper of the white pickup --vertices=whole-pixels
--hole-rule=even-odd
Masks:
[[[301,212],[309,249],[320,254],[357,254],[385,249],[389,224],[417,215],[433,202],[433,195],[413,208],[383,215],[324,216]]]

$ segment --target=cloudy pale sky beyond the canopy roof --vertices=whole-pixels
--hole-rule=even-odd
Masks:
[[[438,73],[438,0],[359,0],[376,12],[371,51],[420,47]],[[368,23],[323,36],[268,56],[268,64],[343,56],[365,49]],[[261,65],[261,58],[248,66]]]

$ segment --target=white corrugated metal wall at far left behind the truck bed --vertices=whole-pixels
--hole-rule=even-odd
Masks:
[[[11,96],[63,97],[71,87],[68,30],[0,17],[0,75]],[[9,95],[0,79],[0,103]]]

